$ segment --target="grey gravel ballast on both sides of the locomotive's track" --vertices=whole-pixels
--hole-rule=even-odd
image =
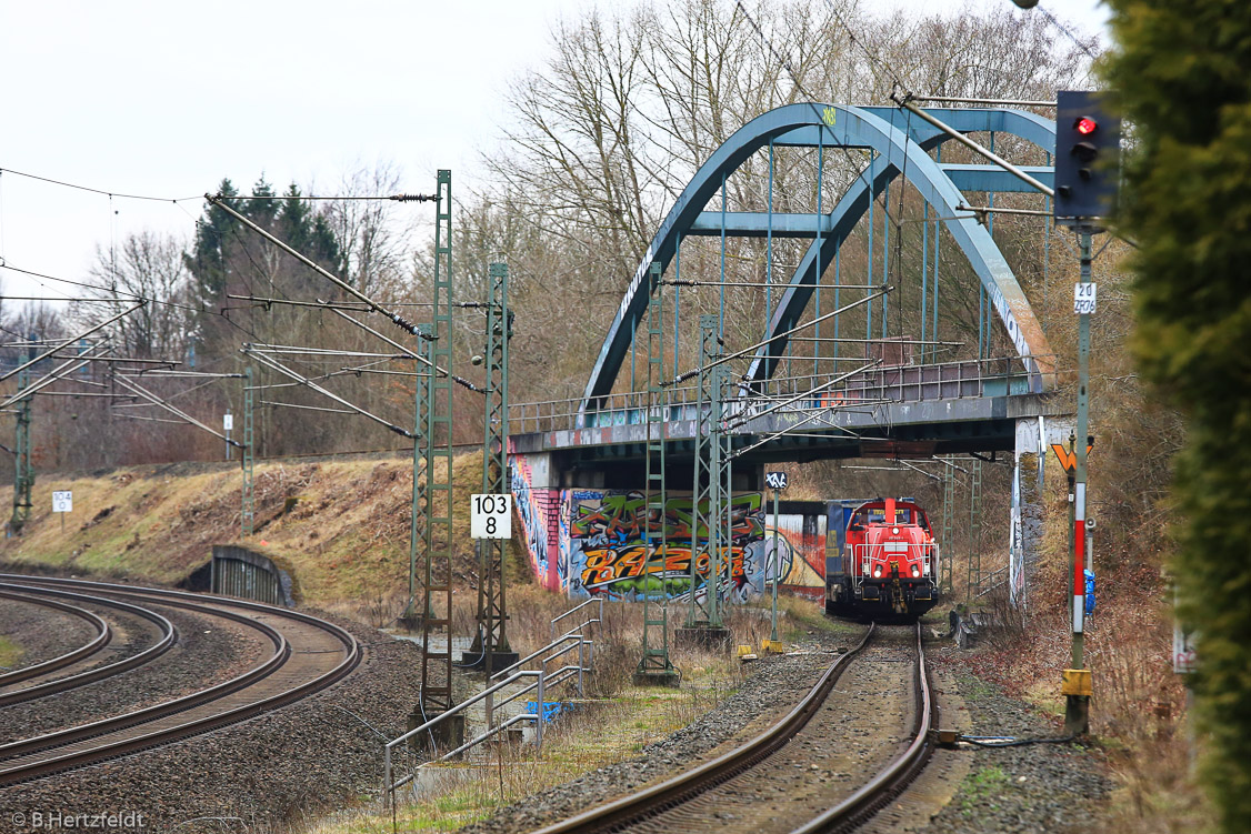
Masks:
[[[826,651],[832,643],[846,648],[852,640],[822,635],[803,646],[813,654],[764,661],[738,693],[689,726],[644,748],[641,756],[529,796],[462,830],[467,834],[529,831],[694,766],[713,753],[728,749],[727,741],[732,738],[754,734],[776,720],[784,706],[796,703],[831,661]],[[953,681],[968,713],[970,734],[1013,738],[1058,734],[1053,723],[1031,706],[968,674],[961,663],[965,655],[955,648],[927,645],[927,656],[941,665],[945,679]],[[937,696],[942,705],[942,694]],[[866,830],[926,834],[1077,830],[1093,823],[1100,800],[1112,788],[1103,775],[1101,758],[1076,745],[970,748],[953,755],[970,756],[970,761],[967,770],[961,770],[965,774],[961,781],[951,786],[948,793],[955,796],[946,806],[932,804],[929,798],[913,799],[922,809],[919,819],[899,825],[883,816],[877,825],[869,823]],[[761,828],[762,834],[766,830],[771,829]]]

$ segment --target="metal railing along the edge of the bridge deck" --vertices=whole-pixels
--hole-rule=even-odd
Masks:
[[[1055,358],[1048,358],[1055,359]],[[804,360],[797,359],[796,363]],[[978,396],[1028,394],[1037,373],[1022,368],[1018,356],[966,359],[929,365],[892,365],[868,368],[843,380],[838,386],[816,391],[832,375],[808,374],[774,376],[763,383],[738,383],[739,395],[727,401],[726,416],[747,415],[793,399],[786,411],[811,411],[881,403],[919,403]],[[694,420],[698,391],[691,386],[669,389],[669,401],[663,409],[666,423]],[[647,421],[647,391],[608,394],[600,408],[582,411],[582,398],[513,403],[508,410],[509,431],[570,431]],[[706,406],[707,408],[707,406]]]

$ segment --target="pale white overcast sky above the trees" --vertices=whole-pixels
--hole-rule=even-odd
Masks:
[[[918,14],[1010,3],[879,1]],[[542,61],[557,15],[587,5],[0,0],[0,169],[190,198],[223,176],[246,191],[261,171],[278,190],[291,180],[332,190],[352,169],[390,161],[407,191],[433,190],[437,168],[453,170],[455,190],[497,135],[508,80]],[[1080,34],[1107,19],[1097,0],[1041,5]],[[96,245],[144,228],[189,238],[201,209],[3,174],[0,258],[81,279]],[[74,293],[0,278],[6,296]]]

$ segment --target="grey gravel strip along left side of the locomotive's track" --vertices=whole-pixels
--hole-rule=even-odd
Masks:
[[[529,796],[462,830],[529,831],[711,759],[733,740],[749,738],[784,715],[829,666],[829,653],[851,648],[859,634],[821,631],[798,645],[798,654],[761,660],[737,693],[673,735],[643,748],[642,755]]]

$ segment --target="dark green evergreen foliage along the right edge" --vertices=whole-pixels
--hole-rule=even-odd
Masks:
[[[1251,830],[1251,6],[1110,0],[1108,66],[1136,146],[1122,229],[1143,373],[1187,415],[1176,460],[1183,621],[1198,629],[1202,784]]]

